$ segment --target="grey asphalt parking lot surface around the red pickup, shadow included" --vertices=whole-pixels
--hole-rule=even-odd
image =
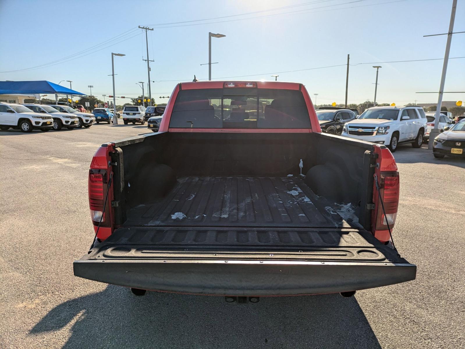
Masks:
[[[87,170],[105,142],[146,125],[0,132],[0,348],[464,348],[465,161],[399,146],[393,233],[409,283],[339,295],[148,292],[73,276],[93,239]]]

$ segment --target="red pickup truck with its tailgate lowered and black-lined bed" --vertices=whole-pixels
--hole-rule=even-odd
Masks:
[[[95,239],[74,275],[134,294],[351,296],[415,279],[392,244],[391,152],[321,133],[299,83],[179,83],[160,132],[95,152],[88,191]]]

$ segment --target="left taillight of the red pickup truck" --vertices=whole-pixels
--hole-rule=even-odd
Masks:
[[[90,215],[94,225],[99,225],[101,219],[100,226],[102,227],[110,226],[108,219],[108,200],[106,207],[103,207],[105,204],[107,183],[106,170],[89,170],[88,191]]]

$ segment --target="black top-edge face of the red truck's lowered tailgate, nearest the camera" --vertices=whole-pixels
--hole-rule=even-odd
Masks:
[[[415,279],[416,266],[391,262],[101,259],[74,262],[74,275],[144,290],[283,296],[363,290]]]

